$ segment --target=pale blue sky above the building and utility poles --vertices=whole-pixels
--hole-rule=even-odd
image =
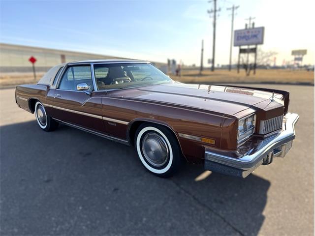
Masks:
[[[293,59],[292,49],[308,49],[305,63],[314,64],[314,1],[218,0],[216,61],[227,64],[230,12],[240,5],[234,29],[255,16],[265,27],[264,51],[278,52],[277,64]],[[212,19],[207,0],[0,1],[0,42],[91,52],[118,57],[200,62],[211,58]],[[233,61],[237,48],[233,49]]]

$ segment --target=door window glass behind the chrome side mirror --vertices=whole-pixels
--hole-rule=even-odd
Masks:
[[[63,74],[63,78],[61,79],[58,89],[77,90],[77,85],[82,83],[86,83],[90,86],[89,91],[94,90],[91,76],[91,66],[70,66]]]

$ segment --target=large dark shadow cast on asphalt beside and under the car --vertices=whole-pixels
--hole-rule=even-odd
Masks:
[[[3,235],[257,235],[264,221],[270,182],[254,174],[159,178],[132,147],[35,121],[1,126],[0,148]]]

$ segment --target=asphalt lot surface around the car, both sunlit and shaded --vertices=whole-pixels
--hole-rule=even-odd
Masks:
[[[1,235],[314,235],[314,87],[262,87],[290,91],[297,137],[245,179],[201,165],[155,177],[132,147],[43,132],[1,89]]]

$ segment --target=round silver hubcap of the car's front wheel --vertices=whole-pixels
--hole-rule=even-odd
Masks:
[[[142,152],[153,166],[163,166],[168,159],[168,147],[165,140],[157,133],[148,133],[142,141]]]

